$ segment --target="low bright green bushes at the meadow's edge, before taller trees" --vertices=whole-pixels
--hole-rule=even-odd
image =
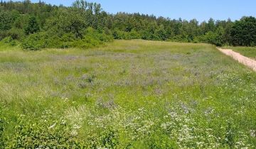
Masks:
[[[112,41],[111,35],[99,33],[93,28],[82,32],[82,39],[75,38],[74,33],[65,33],[62,36],[53,33],[41,32],[31,34],[23,40],[22,48],[27,50],[40,50],[42,48],[92,48]]]

